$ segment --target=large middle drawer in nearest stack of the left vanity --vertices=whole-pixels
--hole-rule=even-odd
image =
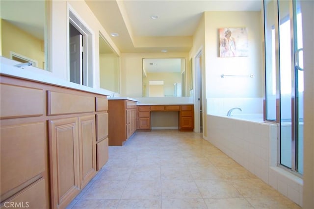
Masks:
[[[1,127],[1,195],[45,171],[44,122]]]

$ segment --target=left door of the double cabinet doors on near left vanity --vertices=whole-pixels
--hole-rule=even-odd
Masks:
[[[79,193],[78,118],[49,120],[52,208],[65,208]]]

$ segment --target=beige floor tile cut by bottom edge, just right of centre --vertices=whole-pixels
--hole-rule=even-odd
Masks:
[[[207,209],[203,199],[162,199],[163,209]]]

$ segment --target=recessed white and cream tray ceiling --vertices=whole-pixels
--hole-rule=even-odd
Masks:
[[[260,11],[262,0],[85,0],[122,53],[188,52],[204,11]],[[157,15],[157,19],[152,19]]]

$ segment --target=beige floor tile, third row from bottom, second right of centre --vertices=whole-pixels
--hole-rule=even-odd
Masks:
[[[189,171],[194,180],[224,179],[222,173],[213,166],[191,166]]]

